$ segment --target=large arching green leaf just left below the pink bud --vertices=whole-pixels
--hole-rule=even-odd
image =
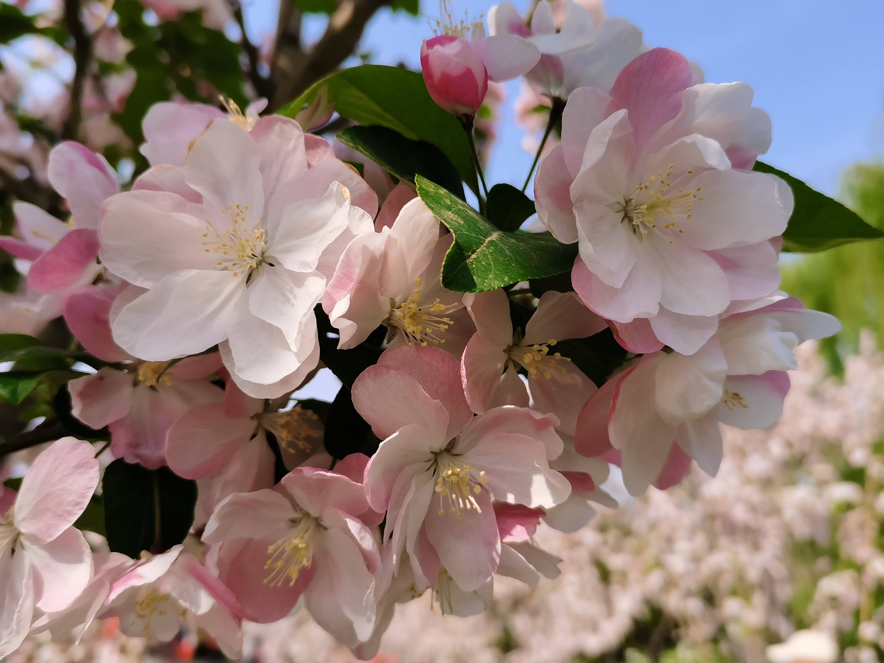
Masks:
[[[460,122],[431,99],[420,73],[385,65],[350,67],[320,80],[278,113],[294,118],[322,90],[345,118],[432,143],[448,156],[461,179],[474,192],[478,190],[467,134]]]

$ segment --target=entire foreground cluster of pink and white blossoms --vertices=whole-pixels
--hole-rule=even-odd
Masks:
[[[545,0],[528,22],[500,4],[489,35],[446,21],[421,54],[469,132],[488,80],[549,83],[561,141],[535,202],[577,245],[563,292],[447,288],[453,235],[405,180],[382,196],[305,133],[315,117],[157,104],[151,167],[122,193],[103,157],[52,150],[72,219],[17,203],[2,246],[104,364],[67,386],[72,415],[107,426],[117,459],[198,482],[194,546],[90,552],[73,525],[99,463],[57,441],[2,496],[0,656],[116,617],[156,641],[195,625],[236,658],[243,621],[301,605],[370,659],[397,604],[430,592],[476,614],[495,576],[559,575],[537,523],[575,532],[593,503],[615,506],[609,464],[637,496],[692,461],[714,476],[720,423],[775,423],[797,345],[838,324],[777,290],[792,194],[751,171],[769,118],[750,88],[698,82],[627,22],[564,15],[557,31]],[[598,385],[557,349],[597,334],[621,347]],[[332,457],[290,400],[330,343],[354,366],[348,350],[383,350],[336,399],[379,441],[370,455]]]

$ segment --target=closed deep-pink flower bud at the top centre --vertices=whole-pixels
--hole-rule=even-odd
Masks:
[[[466,39],[442,34],[421,46],[423,80],[433,101],[454,115],[476,115],[488,92],[488,70]]]

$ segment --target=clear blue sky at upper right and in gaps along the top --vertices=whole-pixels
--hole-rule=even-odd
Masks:
[[[273,27],[276,3],[251,0],[249,32]],[[248,0],[247,0],[248,3]],[[492,0],[455,0],[459,11],[487,12]],[[529,0],[515,0],[523,9]],[[435,16],[438,5],[423,0]],[[644,30],[645,42],[680,50],[701,65],[706,80],[743,80],[755,105],[773,118],[773,147],[766,161],[835,194],[841,171],[857,160],[884,156],[884,1],[882,0],[608,0],[610,16]],[[311,15],[308,41],[326,19]],[[362,50],[380,64],[405,62],[417,69],[418,51],[431,35],[429,19],[382,11],[370,22]],[[531,156],[521,147],[507,84],[500,140],[488,169],[491,181],[520,187]]]

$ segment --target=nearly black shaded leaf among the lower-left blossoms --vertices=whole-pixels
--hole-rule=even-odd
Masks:
[[[116,460],[102,480],[104,529],[112,552],[138,558],[165,552],[187,537],[194,523],[196,482],[169,468],[146,469]]]

